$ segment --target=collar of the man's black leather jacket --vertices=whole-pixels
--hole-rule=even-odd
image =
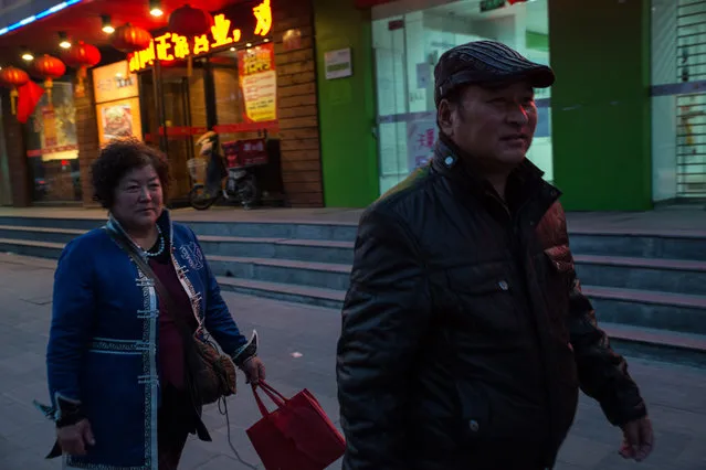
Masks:
[[[455,180],[470,190],[476,197],[499,200],[499,195],[480,171],[475,171],[473,157],[463,152],[451,139],[441,135],[434,149],[432,168],[435,172]],[[507,195],[523,205],[539,200],[548,209],[561,195],[544,179],[544,172],[528,159],[525,159],[508,177]]]

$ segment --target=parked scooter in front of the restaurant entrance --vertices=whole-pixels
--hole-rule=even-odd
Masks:
[[[204,211],[220,199],[242,204],[243,209],[252,209],[259,201],[257,181],[247,168],[225,168],[223,157],[215,148],[218,135],[209,131],[197,140],[201,147],[201,159],[190,162],[192,178],[198,174],[198,165],[207,164],[206,184],[194,184],[189,193],[189,203],[198,211]],[[201,160],[201,161],[198,161]],[[228,177],[225,188],[223,178]]]

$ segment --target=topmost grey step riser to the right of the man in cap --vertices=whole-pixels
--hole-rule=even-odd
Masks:
[[[706,261],[706,237],[691,233],[631,234],[569,228],[575,255],[626,256],[637,258],[692,259]]]

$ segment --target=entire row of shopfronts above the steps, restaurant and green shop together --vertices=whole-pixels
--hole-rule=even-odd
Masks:
[[[263,0],[202,0],[194,6],[231,21],[240,41],[213,39],[191,65],[140,64],[138,53],[131,67],[131,56],[102,35],[102,18],[141,22],[157,40],[169,31],[165,19],[149,17],[147,1],[71,0],[36,14],[56,9],[45,1],[2,15],[14,23],[0,25],[1,64],[24,65],[25,50],[60,55],[60,32],[93,41],[103,61],[82,97],[74,71],[54,81],[54,113],[42,114],[44,95],[25,125],[12,117],[4,92],[0,204],[89,205],[88,168],[105,141],[106,108],[119,114],[126,99],[137,99],[133,128],[172,160],[175,200],[191,185],[186,161],[198,151],[194,139],[215,130],[222,142],[278,142],[289,205],[366,206],[428,160],[436,138],[433,66],[445,50],[477,39],[554,67],[556,84],[537,94],[528,158],[562,190],[568,210],[641,211],[706,197],[706,0],[271,0],[264,36],[245,35],[256,26],[249,12]],[[181,2],[160,4],[169,12]],[[17,26],[25,13],[41,18]],[[270,87],[271,96],[254,98],[255,119],[243,87],[252,81],[239,65],[247,51],[271,53],[276,77],[255,87]],[[131,84],[133,96],[96,98],[94,76],[123,67],[134,79],[114,85]],[[62,143],[53,147],[43,133],[52,119],[63,122],[62,132],[50,132]]]

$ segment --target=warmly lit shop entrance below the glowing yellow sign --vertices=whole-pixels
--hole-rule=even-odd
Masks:
[[[276,88],[273,47],[267,43],[214,52],[194,58],[191,67],[181,61],[160,64],[156,70],[140,73],[145,140],[159,147],[169,158],[169,199],[172,205],[189,204],[193,181],[188,161],[199,157],[197,141],[209,130],[218,135],[217,149],[224,157],[228,157],[225,148],[233,148],[235,142],[254,142],[252,145],[255,146],[263,142],[261,146],[263,150],[266,149],[268,162],[249,171],[257,179],[262,203],[283,200],[274,105],[270,116],[268,108],[253,108],[252,96],[250,102],[247,96],[252,95],[253,87],[260,94],[265,86]],[[257,77],[259,82],[254,85],[253,72],[245,65],[245,62],[252,62],[252,57],[265,57],[271,62],[271,72]],[[264,76],[268,73],[272,74],[272,83],[266,82],[268,78]],[[226,159],[229,167],[235,164],[231,160]]]

